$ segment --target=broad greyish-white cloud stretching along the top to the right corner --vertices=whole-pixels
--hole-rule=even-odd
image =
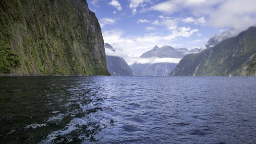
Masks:
[[[240,31],[256,24],[255,0],[167,0],[145,11],[165,14],[185,11],[191,15],[183,19],[185,23],[210,25],[216,28],[234,27]],[[192,16],[199,18],[194,19]]]

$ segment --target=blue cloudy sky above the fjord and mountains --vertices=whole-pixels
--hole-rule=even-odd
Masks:
[[[256,0],[87,0],[105,43],[131,64],[154,46],[200,48],[229,28],[256,25]],[[108,52],[106,52],[108,54]]]

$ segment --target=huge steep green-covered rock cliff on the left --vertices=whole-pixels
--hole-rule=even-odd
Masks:
[[[0,75],[109,75],[86,0],[0,0]]]

